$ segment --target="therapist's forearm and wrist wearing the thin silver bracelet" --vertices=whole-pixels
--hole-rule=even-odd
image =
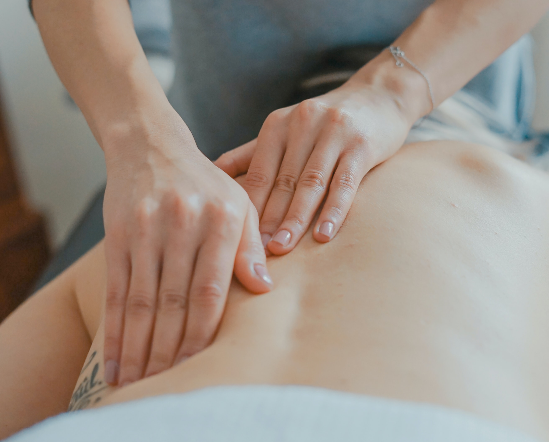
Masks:
[[[528,32],[548,7],[547,0],[437,0],[393,45],[429,78],[436,107]],[[396,90],[412,121],[432,109],[425,79],[406,63],[396,67],[389,51],[356,77]]]

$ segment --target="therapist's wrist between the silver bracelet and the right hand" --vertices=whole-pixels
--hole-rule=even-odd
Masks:
[[[410,127],[432,111],[427,80],[411,66],[396,66],[389,50],[383,50],[349,81],[383,90],[394,101]]]

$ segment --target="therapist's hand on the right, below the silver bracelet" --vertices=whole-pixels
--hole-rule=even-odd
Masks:
[[[262,242],[284,254],[326,195],[313,237],[328,242],[337,234],[362,178],[400,148],[412,123],[390,90],[351,78],[272,112],[256,139],[215,163],[232,177],[247,172],[243,187],[259,213]]]

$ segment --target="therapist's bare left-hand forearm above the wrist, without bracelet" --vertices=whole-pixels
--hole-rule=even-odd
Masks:
[[[104,150],[110,134],[169,109],[127,0],[34,0],[33,11],[55,70]]]

